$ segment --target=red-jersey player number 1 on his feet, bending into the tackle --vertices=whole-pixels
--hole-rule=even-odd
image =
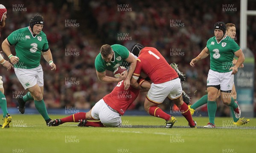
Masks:
[[[141,72],[145,73],[153,82],[144,102],[144,109],[152,116],[166,120],[166,128],[172,128],[177,122],[174,116],[165,113],[157,105],[162,104],[168,97],[180,109],[181,114],[189,122],[190,127],[196,127],[188,105],[183,102],[180,78],[177,72],[168,64],[166,59],[153,47],[144,47],[141,44],[134,44],[131,53],[137,56],[137,66],[135,68],[131,85],[134,88],[141,88],[137,80]]]

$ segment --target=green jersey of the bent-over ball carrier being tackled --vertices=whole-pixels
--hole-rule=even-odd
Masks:
[[[97,55],[95,59],[95,68],[98,72],[104,72],[106,70],[113,72],[119,66],[124,66],[126,69],[128,69],[130,63],[125,61],[125,59],[127,59],[129,56],[128,49],[125,46],[118,44],[111,45],[111,48],[114,51],[113,61],[106,62],[104,59],[102,59],[100,53]]]

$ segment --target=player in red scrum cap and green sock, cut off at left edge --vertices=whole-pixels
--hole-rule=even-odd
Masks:
[[[6,14],[7,10],[6,7],[0,4],[0,28],[3,28],[5,26],[5,20],[6,20]],[[1,37],[1,33],[0,33]],[[2,54],[0,54],[0,63],[7,68],[7,70],[10,70],[12,68],[12,64],[3,59]],[[6,103],[6,97],[4,95],[4,88],[3,88],[3,81],[2,76],[0,76],[0,108],[2,108],[3,111],[3,125],[0,125],[0,127],[10,127],[10,122],[12,122],[12,116],[7,111],[7,103]]]

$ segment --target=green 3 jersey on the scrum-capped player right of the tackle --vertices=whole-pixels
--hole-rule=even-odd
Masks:
[[[233,66],[234,53],[240,49],[231,37],[226,36],[217,42],[215,36],[207,41],[206,47],[210,52],[210,69],[217,72],[230,72]]]

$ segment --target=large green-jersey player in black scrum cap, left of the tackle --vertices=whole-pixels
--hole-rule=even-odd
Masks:
[[[28,89],[25,96],[18,95],[19,111],[25,112],[25,103],[34,100],[35,108],[44,117],[46,123],[51,121],[44,104],[44,72],[40,65],[41,55],[56,70],[52,61],[52,53],[48,46],[46,34],[42,31],[44,19],[35,15],[30,20],[29,26],[12,32],[3,41],[2,48],[14,64],[15,74],[24,89]],[[10,51],[10,46],[15,45],[16,56]]]

